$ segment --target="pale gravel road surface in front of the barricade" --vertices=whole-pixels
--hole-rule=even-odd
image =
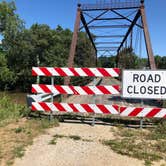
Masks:
[[[122,156],[101,143],[114,139],[112,126],[60,123],[27,147],[25,156],[16,159],[14,166],[142,166],[143,161]],[[80,136],[80,140],[69,137],[58,138],[50,144],[54,135]]]

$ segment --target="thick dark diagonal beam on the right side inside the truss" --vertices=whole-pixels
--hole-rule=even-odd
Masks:
[[[136,14],[136,16],[135,16],[133,22],[131,23],[131,25],[130,25],[130,27],[129,27],[129,29],[128,29],[126,35],[125,35],[125,37],[123,38],[122,43],[120,44],[120,46],[119,46],[117,52],[119,52],[120,49],[122,48],[124,42],[126,41],[127,37],[129,36],[130,32],[132,31],[134,25],[136,25],[136,22],[137,22],[137,20],[138,20],[138,18],[139,18],[140,16],[141,16],[141,12],[140,12],[140,10],[138,10],[138,12],[137,12],[137,14]]]

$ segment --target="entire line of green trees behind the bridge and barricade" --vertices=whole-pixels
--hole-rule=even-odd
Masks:
[[[16,14],[14,2],[0,2],[0,90],[29,91],[36,78],[31,76],[33,66],[65,67],[73,32],[57,26],[33,24],[25,28],[25,22]],[[94,67],[95,51],[85,34],[79,32],[74,65]],[[158,68],[164,69],[166,57],[155,57]],[[118,58],[98,57],[99,67],[142,68],[148,66],[146,58],[139,58],[132,48],[124,48]],[[43,78],[41,81],[47,82]],[[78,78],[77,78],[78,81]],[[62,84],[56,78],[56,84]]]

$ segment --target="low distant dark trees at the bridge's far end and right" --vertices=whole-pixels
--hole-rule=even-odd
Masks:
[[[157,69],[166,69],[166,56],[156,55],[155,63]],[[140,58],[133,49],[123,48],[118,56],[101,56],[98,58],[100,67],[119,67],[121,69],[149,69],[148,58]]]

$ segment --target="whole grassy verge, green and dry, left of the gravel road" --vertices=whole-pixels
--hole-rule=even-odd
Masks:
[[[0,97],[0,165],[12,165],[16,157],[22,157],[25,147],[46,129],[58,126],[56,119],[30,119],[25,115],[28,109],[14,102],[10,97]]]

